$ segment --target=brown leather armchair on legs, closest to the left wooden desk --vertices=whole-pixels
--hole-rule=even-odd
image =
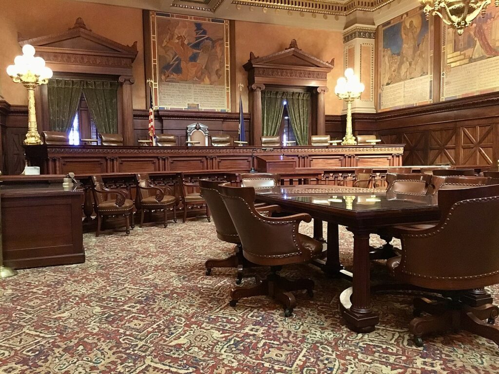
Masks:
[[[97,213],[97,231],[95,236],[99,236],[103,217],[124,216],[126,234],[130,234],[130,226],[133,228],[133,201],[126,189],[106,188],[101,176],[92,176],[90,178],[92,185],[92,194],[94,197],[94,210]],[[106,199],[112,197],[114,199]]]

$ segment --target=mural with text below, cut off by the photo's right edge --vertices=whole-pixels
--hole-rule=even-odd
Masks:
[[[444,25],[442,100],[497,91],[499,88],[499,9],[487,7],[463,35]]]

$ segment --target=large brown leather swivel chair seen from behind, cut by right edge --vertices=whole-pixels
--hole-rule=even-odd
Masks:
[[[499,283],[499,185],[441,190],[438,204],[440,222],[430,229],[401,228],[402,256],[387,262],[398,281],[431,292],[441,290],[446,297],[443,302],[415,299],[417,317],[409,331],[420,347],[423,335],[451,328],[499,345],[499,328],[492,326],[499,308],[468,305],[465,297],[469,290]],[[420,317],[421,312],[430,315]]]

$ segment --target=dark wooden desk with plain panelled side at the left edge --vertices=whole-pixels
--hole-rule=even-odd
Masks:
[[[2,183],[0,196],[5,265],[24,269],[85,262],[83,190],[64,190],[62,183]]]

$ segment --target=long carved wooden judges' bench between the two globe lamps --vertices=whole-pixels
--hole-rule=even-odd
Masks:
[[[41,174],[103,174],[136,172],[186,172],[249,170],[279,156],[295,168],[402,166],[404,145],[330,147],[119,147],[119,146],[26,146],[30,166]],[[276,170],[274,170],[276,172]]]

